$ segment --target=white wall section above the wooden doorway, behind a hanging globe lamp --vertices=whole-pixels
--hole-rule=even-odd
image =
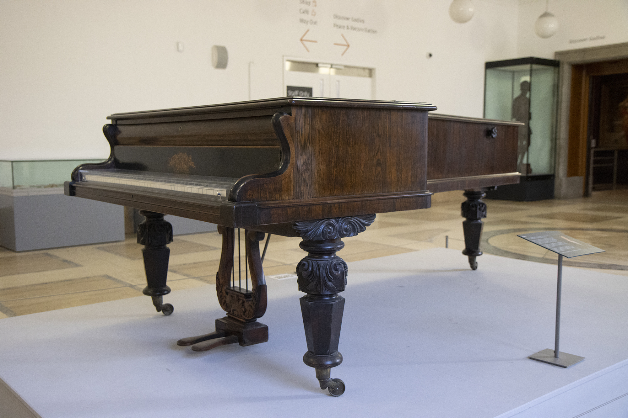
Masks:
[[[534,33],[545,6],[545,0],[521,0],[518,56],[553,59],[555,51],[628,42],[628,0],[550,0],[559,28],[547,39]]]

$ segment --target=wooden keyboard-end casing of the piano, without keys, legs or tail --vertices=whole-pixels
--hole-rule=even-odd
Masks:
[[[167,159],[150,168],[138,161],[168,147],[171,156],[183,152],[192,157],[196,168],[190,174],[204,167],[201,175],[238,178],[229,200],[80,182],[70,186],[71,193],[227,227],[426,208],[427,112],[433,109],[426,104],[276,99],[114,114],[105,128],[112,156],[103,168],[172,172]],[[133,149],[127,151],[129,147]],[[246,153],[248,149],[254,152]],[[222,166],[233,166],[229,173],[202,160],[203,154],[220,151],[231,158],[228,164],[222,161]],[[254,161],[256,151],[274,161]],[[126,161],[117,157],[122,153]]]

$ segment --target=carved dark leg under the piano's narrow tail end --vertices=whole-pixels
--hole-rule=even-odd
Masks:
[[[475,257],[482,255],[480,251],[480,235],[482,235],[482,218],[486,217],[486,203],[482,198],[486,196],[484,190],[465,190],[463,194],[467,200],[462,202],[460,213],[467,220],[462,221],[465,233],[465,249],[462,254],[468,255],[472,270],[477,269]]]

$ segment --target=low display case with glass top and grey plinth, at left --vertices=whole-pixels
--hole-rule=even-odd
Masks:
[[[124,240],[124,208],[66,196],[79,164],[104,159],[0,160],[0,246],[30,251]]]

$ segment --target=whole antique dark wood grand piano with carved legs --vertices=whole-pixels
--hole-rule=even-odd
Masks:
[[[303,362],[315,368],[321,389],[339,396],[345,385],[330,369],[342,362],[342,238],[363,232],[376,213],[429,208],[433,193],[465,190],[463,254],[476,269],[484,190],[519,181],[520,122],[428,117],[431,110],[416,102],[283,97],[113,114],[103,128],[109,159],[78,166],[65,194],[140,210],[143,292],[164,314],[173,311],[163,303],[173,231],[163,215],[219,225],[216,289],[227,314],[215,331],[178,341],[195,351],[268,341],[268,327],[257,321],[267,300],[259,242],[266,234],[301,237],[308,253],[296,267],[305,292]],[[234,265],[239,228],[244,287]]]

